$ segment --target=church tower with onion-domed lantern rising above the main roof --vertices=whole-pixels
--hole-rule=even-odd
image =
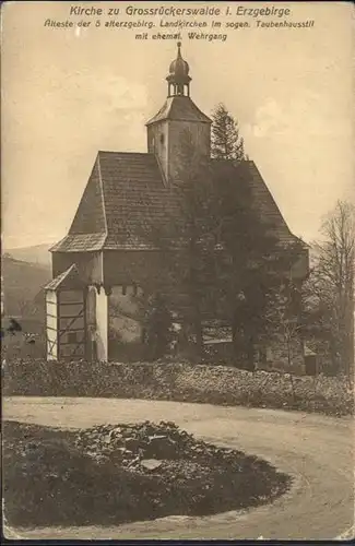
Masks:
[[[179,170],[181,142],[187,134],[197,157],[208,159],[211,147],[212,121],[190,98],[190,68],[181,57],[181,43],[178,41],[177,46],[177,57],[166,78],[167,98],[146,123],[147,152],[155,154],[167,185]]]

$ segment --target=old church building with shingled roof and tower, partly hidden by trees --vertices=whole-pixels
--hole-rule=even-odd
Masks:
[[[99,151],[68,235],[51,248],[52,281],[46,286],[48,359],[90,358],[93,339],[96,357],[111,358],[110,298],[129,316],[129,297],[158,266],[159,249],[144,238],[142,225],[168,222],[175,206],[171,181],[186,130],[201,161],[211,161],[212,121],[190,96],[190,69],[180,46],[166,78],[165,103],[146,122],[146,153]],[[241,163],[261,216],[272,222],[280,240],[294,241],[255,163]],[[305,251],[295,275],[303,278],[307,271]],[[119,336],[125,321],[117,321]]]

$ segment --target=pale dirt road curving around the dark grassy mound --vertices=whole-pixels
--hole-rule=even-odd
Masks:
[[[165,518],[118,527],[9,530],[22,538],[351,538],[353,419],[244,407],[113,399],[11,397],[3,419],[63,428],[174,420],[189,432],[269,460],[295,485],[272,506],[208,518]]]

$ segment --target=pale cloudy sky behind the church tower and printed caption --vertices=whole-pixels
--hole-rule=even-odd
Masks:
[[[98,150],[145,152],[144,123],[161,108],[176,40],[161,28],[105,27],[105,22],[192,21],[129,15],[126,8],[202,8],[203,2],[7,2],[2,5],[2,240],[5,248],[54,242],[72,222]],[[189,39],[191,98],[206,115],[224,103],[245,147],[292,232],[311,241],[338,199],[354,201],[354,10],[351,2],[275,2],[287,16],[237,16],[238,7],[209,2],[249,27],[203,28],[227,39]],[[70,15],[71,7],[104,14]],[[110,8],[120,13],[108,16]],[[223,11],[224,13],[224,11]],[[45,26],[45,21],[73,27]],[[95,22],[99,20],[100,26]],[[257,27],[256,20],[312,27]],[[80,21],[91,22],[79,28]],[[196,29],[194,29],[196,31]],[[201,31],[201,29],[198,29]],[[149,32],[149,39],[135,39]]]

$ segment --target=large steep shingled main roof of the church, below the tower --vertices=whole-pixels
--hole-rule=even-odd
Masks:
[[[221,168],[212,161],[213,170]],[[295,240],[253,162],[233,166],[246,177],[261,216],[281,241]],[[149,250],[146,227],[157,229],[177,211],[177,195],[164,185],[156,157],[146,153],[99,152],[69,234],[54,252]]]

